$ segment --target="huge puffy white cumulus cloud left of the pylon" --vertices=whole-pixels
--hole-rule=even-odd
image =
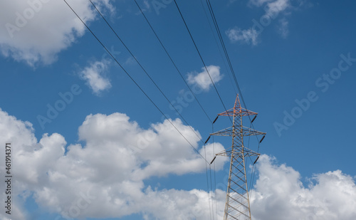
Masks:
[[[172,122],[194,147],[199,147],[197,130],[198,137],[179,119]],[[48,211],[70,218],[130,214],[142,214],[147,219],[209,218],[208,192],[157,190],[144,184],[150,177],[205,170],[204,159],[167,120],[142,129],[125,114],[88,115],[78,132],[85,145],[68,145],[67,152],[62,135],[44,134],[38,141],[33,132],[31,123],[0,110],[0,141],[16,146],[12,155],[16,158],[14,194],[31,195]],[[206,146],[209,159],[214,157],[212,147]],[[214,150],[219,152],[224,147],[215,144]],[[0,156],[4,157],[4,151]],[[217,158],[216,170],[226,161],[226,157]],[[217,192],[224,198],[223,191]],[[26,219],[26,213],[22,214],[18,219]]]

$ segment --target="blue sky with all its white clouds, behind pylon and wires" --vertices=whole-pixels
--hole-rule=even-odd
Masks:
[[[189,88],[135,1],[93,2],[206,140],[211,122],[189,97]],[[137,3],[214,120],[224,107],[174,1]],[[221,219],[225,188],[212,193],[216,206],[211,206],[204,160],[64,1],[1,4],[0,140],[15,146],[13,219],[63,219],[78,203],[85,208],[78,208],[73,219]],[[90,1],[68,4],[204,154],[199,138],[178,119]],[[177,4],[226,108],[232,108],[236,86],[209,26],[206,1]],[[281,204],[288,219],[355,219],[355,2],[230,0],[211,5],[247,108],[258,112],[254,127],[267,133],[252,183],[253,219],[266,219]],[[221,118],[214,130],[229,126]],[[231,144],[221,137],[214,142],[216,151]],[[208,160],[213,157],[209,143]],[[257,150],[254,138],[250,147]],[[4,150],[1,176],[3,159]],[[226,159],[217,159],[217,184],[224,185],[227,167]],[[211,216],[211,210],[216,214]],[[9,218],[4,210],[0,216]]]

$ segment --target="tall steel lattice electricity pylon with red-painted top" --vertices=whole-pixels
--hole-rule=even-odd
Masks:
[[[251,209],[250,209],[250,201],[248,197],[245,158],[257,157],[254,162],[256,163],[260,154],[258,154],[257,152],[253,152],[252,150],[244,146],[244,137],[251,136],[251,135],[266,135],[266,133],[253,130],[248,127],[244,127],[244,125],[242,125],[243,117],[248,115],[255,115],[255,117],[253,117],[253,120],[255,120],[257,113],[241,108],[239,95],[237,95],[234,108],[222,112],[218,115],[218,117],[219,116],[232,117],[233,118],[232,126],[224,130],[220,130],[219,132],[214,132],[210,134],[210,135],[232,137],[231,147],[227,150],[224,150],[216,154],[216,156],[230,157],[230,171],[229,171],[229,181],[228,181],[227,192],[226,192],[224,220],[229,220],[229,219],[251,220]],[[214,120],[214,122],[216,121],[216,119]],[[253,122],[253,120],[251,120],[251,122]],[[261,141],[263,140],[264,137],[265,136],[262,137]],[[214,162],[214,159],[213,161],[211,161],[211,163]]]

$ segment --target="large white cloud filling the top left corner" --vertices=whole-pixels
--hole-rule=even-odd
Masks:
[[[68,3],[84,21],[93,21],[95,11],[90,1],[69,0]],[[109,0],[97,0],[101,9],[113,13]],[[1,1],[0,50],[3,56],[25,61],[30,66],[50,64],[58,53],[83,36],[85,26],[64,1]]]

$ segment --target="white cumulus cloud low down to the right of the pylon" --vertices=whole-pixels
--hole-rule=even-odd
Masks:
[[[300,174],[285,164],[263,155],[259,177],[251,192],[251,209],[256,220],[352,220],[356,219],[356,185],[340,170],[315,174],[304,187]]]

